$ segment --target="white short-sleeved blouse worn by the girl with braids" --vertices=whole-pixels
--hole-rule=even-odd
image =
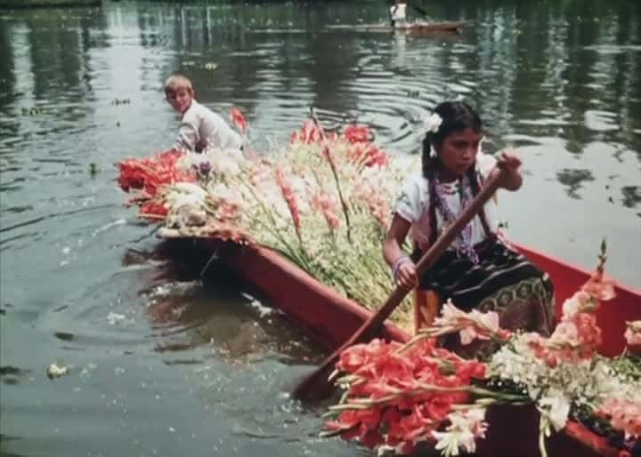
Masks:
[[[479,153],[476,156],[477,171],[481,173],[483,180],[490,174],[491,169],[496,164],[496,159],[493,156]],[[457,216],[460,214],[460,196],[458,193],[458,180],[451,183],[443,184],[445,186],[445,201],[450,206],[450,209]],[[430,239],[430,215],[429,215],[429,182],[423,176],[423,172],[414,172],[410,177],[405,180],[403,184],[401,195],[396,199],[394,212],[401,216],[404,220],[411,223],[410,236],[418,247],[426,251],[429,247]],[[497,220],[496,203],[490,200],[485,204],[485,219],[490,226],[492,232],[499,229]],[[481,218],[476,216],[472,222],[472,245],[482,242],[485,237],[485,230]],[[436,227],[438,230],[443,229],[442,213],[436,210]],[[450,249],[458,246],[457,241],[454,242]]]

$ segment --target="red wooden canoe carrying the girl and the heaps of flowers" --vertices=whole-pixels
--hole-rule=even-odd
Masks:
[[[170,231],[162,232],[172,237]],[[177,232],[174,237],[180,237]],[[192,245],[193,238],[187,238]],[[328,286],[299,269],[278,253],[262,248],[239,246],[210,238],[199,239],[199,249],[216,253],[241,279],[247,281],[282,310],[288,318],[304,329],[313,340],[329,351],[336,349],[370,316],[371,312],[348,300]],[[563,301],[576,292],[590,276],[584,269],[515,245],[540,269],[547,271],[556,287],[557,314]],[[616,285],[617,296],[605,302],[597,312],[603,332],[600,351],[607,356],[621,353],[625,341],[625,321],[641,319],[641,291]],[[381,336],[406,341],[410,335],[389,321]],[[480,457],[539,457],[538,413],[530,407],[496,407],[488,412],[491,426],[487,437],[480,440]],[[548,439],[550,457],[623,457],[629,455],[608,444],[579,423],[570,422],[562,433]]]

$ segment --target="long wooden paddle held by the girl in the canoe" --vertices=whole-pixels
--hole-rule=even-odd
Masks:
[[[436,240],[434,245],[427,250],[420,261],[416,265],[417,276],[421,277],[422,274],[432,267],[434,263],[441,257],[441,254],[452,244],[458,237],[458,234],[465,229],[470,220],[481,211],[483,205],[491,198],[492,195],[499,188],[499,180],[505,172],[503,169],[496,167],[491,171],[488,180],[485,181],[483,188],[475,196],[467,208],[458,216],[448,229],[442,232],[442,235]],[[385,304],[377,310],[361,327],[353,333],[347,341],[345,341],[338,349],[336,349],[331,356],[327,357],[325,361],[316,368],[312,373],[307,375],[294,389],[294,397],[304,400],[321,400],[329,397],[332,390],[332,384],[328,380],[329,373],[334,369],[340,353],[344,349],[364,341],[371,337],[372,333],[380,331],[381,325],[392,311],[402,302],[410,292],[410,289],[404,289],[401,286],[396,286],[394,292],[389,296]]]

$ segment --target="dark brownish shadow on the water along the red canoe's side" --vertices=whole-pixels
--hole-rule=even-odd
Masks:
[[[166,341],[158,352],[217,347],[228,359],[278,354],[281,363],[315,363],[321,351],[288,318],[264,301],[253,285],[190,242],[164,242],[156,256],[164,264],[156,281],[141,294],[156,333],[168,336],[191,329],[191,341]],[[215,254],[214,254],[215,255]],[[215,297],[215,307],[212,306]]]

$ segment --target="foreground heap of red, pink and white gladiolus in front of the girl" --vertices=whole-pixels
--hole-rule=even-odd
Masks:
[[[446,456],[474,453],[490,405],[530,404],[540,412],[542,456],[545,437],[568,420],[582,421],[637,455],[641,360],[596,354],[600,329],[594,313],[600,301],[612,298],[602,254],[596,274],[564,303],[563,319],[549,338],[508,333],[496,313],[466,313],[447,303],[434,325],[405,345],[374,340],[345,349],[336,381],[345,394],[329,408],[337,418],[327,422],[323,435],[394,453],[410,453],[424,441]],[[629,323],[629,342],[636,341],[638,324]],[[462,344],[480,339],[502,346],[486,362],[465,360],[437,348],[436,338],[447,333],[460,333]]]

